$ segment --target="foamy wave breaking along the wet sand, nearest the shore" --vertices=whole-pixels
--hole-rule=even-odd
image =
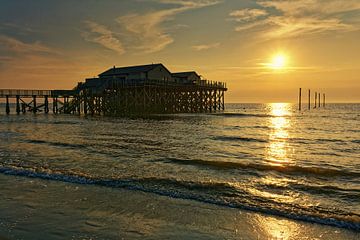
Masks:
[[[231,208],[263,212],[290,219],[327,224],[360,231],[360,215],[341,209],[278,202],[253,195],[229,183],[194,182],[161,178],[97,178],[87,174],[34,169],[20,166],[0,166],[0,173],[7,175],[56,180],[75,184],[92,184],[144,191],[163,196],[195,200]]]

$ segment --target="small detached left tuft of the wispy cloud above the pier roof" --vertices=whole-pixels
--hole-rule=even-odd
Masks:
[[[100,44],[101,46],[113,50],[118,54],[125,53],[122,42],[115,37],[115,34],[106,26],[93,21],[85,21],[87,30],[82,33],[86,41]]]

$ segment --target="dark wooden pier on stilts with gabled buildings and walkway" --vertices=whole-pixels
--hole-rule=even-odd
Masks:
[[[225,109],[223,82],[195,72],[171,73],[162,64],[113,67],[72,90],[0,89],[17,114],[25,112],[127,116],[162,113],[211,113]]]

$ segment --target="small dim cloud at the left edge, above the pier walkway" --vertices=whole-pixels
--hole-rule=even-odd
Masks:
[[[56,50],[45,46],[41,42],[25,43],[6,35],[0,35],[0,49],[13,53],[58,54]]]

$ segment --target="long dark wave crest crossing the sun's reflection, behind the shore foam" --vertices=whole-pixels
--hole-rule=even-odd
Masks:
[[[275,171],[284,174],[307,174],[313,176],[339,176],[339,177],[360,177],[360,172],[351,172],[347,170],[319,168],[319,167],[302,167],[296,165],[269,165],[259,163],[242,163],[227,161],[207,161],[207,160],[185,160],[178,158],[160,159],[165,163],[175,163],[182,165],[193,165],[200,167],[213,167],[217,169],[253,169],[257,171]]]

